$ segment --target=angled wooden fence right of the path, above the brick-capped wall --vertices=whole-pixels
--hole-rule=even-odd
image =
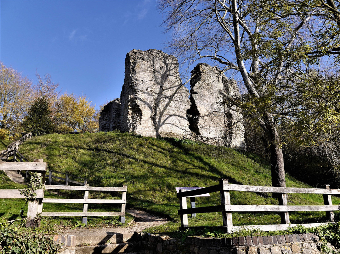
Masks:
[[[295,226],[290,224],[289,212],[296,211],[325,211],[327,220],[334,222],[333,211],[339,211],[340,205],[332,205],[332,194],[340,194],[340,189],[330,189],[329,185],[325,188],[292,188],[292,187],[267,187],[267,186],[251,186],[228,184],[228,180],[221,179],[220,184],[209,186],[201,189],[183,191],[177,193],[180,198],[180,210],[178,214],[181,216],[181,228],[188,228],[188,214],[195,213],[212,213],[222,212],[223,228],[228,233],[235,232],[240,229],[261,229],[263,231],[286,230],[288,227]],[[244,192],[267,192],[277,193],[278,205],[232,205],[230,201],[229,191]],[[187,197],[197,196],[206,193],[220,192],[221,205],[187,208]],[[324,205],[287,205],[287,193],[306,193],[306,194],[323,194]],[[281,223],[279,225],[243,225],[233,226],[232,212],[279,212]],[[306,227],[318,226],[325,223],[304,223]]]

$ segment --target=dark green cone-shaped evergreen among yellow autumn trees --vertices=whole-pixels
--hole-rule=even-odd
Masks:
[[[55,129],[51,117],[48,100],[43,96],[33,102],[22,125],[25,132],[32,132],[34,136],[49,134]]]

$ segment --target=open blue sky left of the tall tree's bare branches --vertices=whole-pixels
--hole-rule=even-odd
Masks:
[[[0,60],[101,105],[120,97],[132,49],[164,48],[155,0],[0,0]]]

